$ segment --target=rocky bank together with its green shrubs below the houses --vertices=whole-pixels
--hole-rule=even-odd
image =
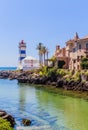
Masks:
[[[9,74],[8,74],[9,73]],[[1,78],[17,79],[20,83],[52,85],[65,90],[88,91],[88,70],[81,71],[41,66],[39,69],[4,72]]]

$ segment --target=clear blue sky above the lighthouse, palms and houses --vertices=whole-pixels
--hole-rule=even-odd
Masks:
[[[51,57],[75,32],[88,35],[88,0],[0,0],[0,66],[18,65],[22,39],[27,55],[38,58],[42,42]]]

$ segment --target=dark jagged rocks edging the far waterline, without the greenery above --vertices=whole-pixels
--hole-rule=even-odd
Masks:
[[[51,85],[65,90],[88,91],[88,81],[83,82],[82,79],[80,81],[67,81],[60,76],[41,76],[26,71],[0,71],[0,78],[17,79],[19,83]]]

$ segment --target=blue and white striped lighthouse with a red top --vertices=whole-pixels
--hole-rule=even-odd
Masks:
[[[22,64],[22,60],[26,57],[26,43],[22,40],[19,43],[19,65]]]

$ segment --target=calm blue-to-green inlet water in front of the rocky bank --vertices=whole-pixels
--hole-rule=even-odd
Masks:
[[[0,109],[15,117],[17,126],[23,118],[31,126],[50,126],[52,130],[88,130],[88,102],[48,92],[16,80],[0,79]],[[45,129],[47,130],[47,129]]]

